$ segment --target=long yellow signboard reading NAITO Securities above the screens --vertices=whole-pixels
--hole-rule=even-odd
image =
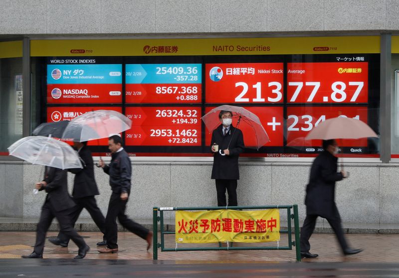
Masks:
[[[379,36],[31,40],[30,56],[380,53]]]

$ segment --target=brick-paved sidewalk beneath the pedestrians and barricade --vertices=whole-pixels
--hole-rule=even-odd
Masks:
[[[87,259],[113,260],[152,260],[152,248],[146,251],[147,243],[130,232],[119,232],[119,253],[99,254],[96,243],[101,241],[99,232],[80,232],[91,250]],[[54,237],[57,232],[49,232],[47,237]],[[166,235],[166,247],[175,247],[174,235]],[[311,252],[319,254],[316,259],[303,259],[303,262],[351,262],[351,263],[399,263],[399,234],[347,234],[348,243],[353,248],[363,248],[364,252],[354,256],[343,256],[334,234],[313,234],[310,243]],[[160,240],[159,240],[160,241]],[[0,259],[18,259],[21,255],[30,254],[35,242],[35,232],[0,232]],[[273,243],[275,244],[275,243]],[[286,245],[282,237],[280,245]],[[189,247],[189,245],[184,245]],[[198,246],[198,245],[197,245]],[[235,244],[234,246],[240,246]],[[182,244],[179,245],[182,247]],[[62,248],[46,241],[43,257],[45,259],[72,259],[77,254],[77,247],[70,242],[69,247]],[[27,259],[26,259],[27,260]],[[176,260],[183,262],[294,262],[295,250],[278,251],[191,251],[161,252],[158,249],[158,260]]]

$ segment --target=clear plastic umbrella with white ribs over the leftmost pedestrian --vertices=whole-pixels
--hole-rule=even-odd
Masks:
[[[43,136],[29,136],[8,147],[9,155],[32,164],[60,169],[83,168],[77,152],[67,143]]]

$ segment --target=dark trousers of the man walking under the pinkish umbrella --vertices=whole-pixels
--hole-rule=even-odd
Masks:
[[[301,229],[301,238],[300,238],[301,252],[309,252],[310,250],[309,239],[315,229],[317,217],[318,215],[309,215],[309,214],[306,215],[305,221],[303,222],[303,226]],[[341,217],[336,206],[334,206],[334,211],[332,216],[326,218],[326,220],[330,224],[331,228],[333,228],[333,231],[337,236],[342,251],[348,249],[348,244],[344,236],[344,230],[342,229],[341,225]]]

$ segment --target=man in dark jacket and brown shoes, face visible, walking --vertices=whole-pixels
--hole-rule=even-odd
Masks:
[[[119,135],[111,136],[108,140],[108,148],[112,153],[111,163],[105,165],[102,159],[99,162],[99,166],[103,167],[104,172],[109,175],[109,184],[112,190],[107,216],[105,217],[107,247],[98,250],[98,252],[118,252],[117,218],[123,227],[146,240],[147,250],[149,250],[153,233],[129,219],[125,214],[131,188],[132,164],[127,152],[122,147],[121,137]]]

